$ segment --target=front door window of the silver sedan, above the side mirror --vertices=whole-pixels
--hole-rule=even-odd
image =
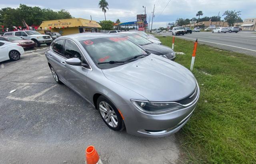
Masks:
[[[64,57],[66,57],[67,59],[78,58],[82,60],[82,52],[73,41],[66,40],[64,46]]]

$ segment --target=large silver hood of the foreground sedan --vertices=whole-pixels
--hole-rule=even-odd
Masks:
[[[109,80],[142,95],[148,101],[184,99],[196,87],[196,79],[188,69],[154,54],[119,67],[102,69],[102,72]]]

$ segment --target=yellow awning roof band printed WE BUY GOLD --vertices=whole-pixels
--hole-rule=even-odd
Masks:
[[[86,20],[82,18],[72,18],[63,20],[47,20],[42,21],[40,28],[66,28],[66,27],[89,27],[101,28],[101,26],[94,20]]]

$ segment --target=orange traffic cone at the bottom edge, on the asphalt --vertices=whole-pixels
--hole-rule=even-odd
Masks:
[[[94,146],[88,146],[85,150],[86,164],[102,164],[100,156]]]

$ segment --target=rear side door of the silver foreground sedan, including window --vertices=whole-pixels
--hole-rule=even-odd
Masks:
[[[48,53],[45,53],[45,54],[50,65],[52,65],[53,69],[57,73],[59,79],[65,83],[66,82],[64,78],[65,65],[61,63],[61,61],[64,59],[63,45],[64,45],[64,39],[56,40],[51,45],[51,51],[48,51]]]

